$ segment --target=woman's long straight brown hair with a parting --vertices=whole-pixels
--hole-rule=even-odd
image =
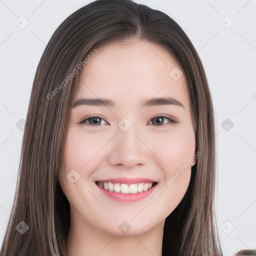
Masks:
[[[180,26],[161,11],[131,0],[96,0],[68,16],[50,38],[38,64],[30,101],[15,198],[0,256],[66,255],[69,202],[57,171],[63,161],[77,64],[111,42],[144,40],[164,47],[186,77],[196,150],[187,191],[166,218],[162,255],[222,255],[214,215],[214,115],[198,54]],[[62,86],[60,85],[62,84]],[[24,221],[23,234],[16,226]]]

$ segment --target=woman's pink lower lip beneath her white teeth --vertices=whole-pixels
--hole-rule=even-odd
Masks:
[[[117,193],[117,192],[112,192],[109,190],[105,190],[103,187],[101,187],[100,185],[96,186],[102,191],[103,194],[105,194],[106,196],[110,197],[111,199],[114,199],[118,202],[136,202],[136,201],[141,201],[143,199],[145,199],[146,197],[148,197],[154,190],[155,187],[157,186],[157,184],[155,184],[154,186],[152,186],[150,189],[140,192],[140,193],[134,193],[134,194],[124,194],[124,193]]]

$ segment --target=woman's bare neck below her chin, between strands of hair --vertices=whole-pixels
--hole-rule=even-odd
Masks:
[[[71,208],[67,256],[161,256],[164,221],[141,234],[117,236],[73,213]]]

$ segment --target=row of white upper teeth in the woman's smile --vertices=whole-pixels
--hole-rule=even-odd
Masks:
[[[114,191],[114,192],[121,192],[121,193],[140,193],[143,191],[147,191],[147,189],[152,187],[152,182],[148,183],[135,183],[135,184],[124,184],[124,183],[112,183],[112,182],[101,182],[99,181],[98,184],[103,187],[105,190]]]

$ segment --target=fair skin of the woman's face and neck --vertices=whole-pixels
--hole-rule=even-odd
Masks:
[[[138,41],[105,46],[82,70],[74,99],[108,98],[116,105],[71,110],[64,167],[58,173],[70,203],[69,256],[161,255],[164,220],[184,196],[195,163],[188,161],[195,153],[189,95],[184,75],[178,80],[169,75],[174,67],[177,63],[161,46]],[[166,96],[184,107],[139,108],[140,100]],[[153,122],[161,114],[178,123]],[[88,119],[79,123],[87,116],[99,116],[101,125],[89,125]],[[123,118],[131,123],[127,131],[118,126]],[[189,167],[153,202],[148,197],[117,202],[95,184],[113,177],[147,177],[158,181],[156,192],[187,162]],[[80,175],[74,183],[67,178],[72,169]],[[118,228],[123,221],[131,227],[125,234]]]

